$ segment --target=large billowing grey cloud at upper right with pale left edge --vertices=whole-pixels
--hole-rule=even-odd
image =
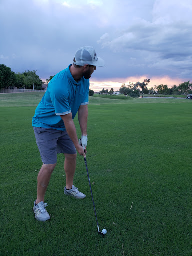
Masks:
[[[117,34],[105,33],[97,42],[113,52],[125,52],[134,58],[129,61],[131,66],[140,63],[153,74],[157,74],[155,69],[160,69],[163,75],[191,76],[191,3],[155,1],[151,12],[151,21],[134,18],[127,28]]]

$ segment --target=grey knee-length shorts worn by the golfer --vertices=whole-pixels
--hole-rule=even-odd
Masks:
[[[57,161],[57,154],[76,154],[76,148],[68,133],[62,130],[33,127],[36,143],[44,164]]]

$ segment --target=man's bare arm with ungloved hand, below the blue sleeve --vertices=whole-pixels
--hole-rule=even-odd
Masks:
[[[78,142],[76,128],[75,128],[75,125],[74,125],[74,122],[72,119],[72,113],[60,115],[60,117],[62,118],[62,120],[64,122],[66,131],[67,131],[69,137],[71,138],[72,142],[74,143],[76,150],[78,151],[78,153],[80,155],[83,155],[84,157],[86,157],[83,147]]]

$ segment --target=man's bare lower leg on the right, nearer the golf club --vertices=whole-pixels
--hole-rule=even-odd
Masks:
[[[71,189],[73,185],[73,178],[76,168],[77,154],[64,154],[64,170],[66,173],[66,189]]]

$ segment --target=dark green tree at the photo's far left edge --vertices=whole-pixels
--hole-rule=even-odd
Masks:
[[[15,73],[11,71],[10,67],[0,64],[0,89],[13,87],[15,82]]]

